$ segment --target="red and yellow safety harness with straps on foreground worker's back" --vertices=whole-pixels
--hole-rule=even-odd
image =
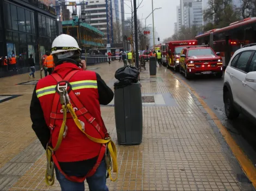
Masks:
[[[72,91],[72,86],[69,84],[69,80],[72,78],[79,71],[71,71],[64,79],[62,79],[59,74],[53,73],[51,76],[58,82],[56,86],[56,93],[54,94],[53,103],[52,103],[52,112],[50,116],[50,131],[51,131],[51,138],[46,147],[46,159],[47,159],[47,168],[45,173],[45,182],[48,186],[52,186],[54,183],[54,165],[59,169],[59,171],[66,177],[66,179],[73,181],[73,182],[83,182],[86,180],[87,177],[92,176],[96,169],[99,167],[103,157],[105,156],[106,165],[107,165],[107,178],[111,181],[116,181],[117,177],[113,179],[111,176],[111,170],[113,168],[113,172],[117,173],[118,166],[117,166],[117,149],[115,148],[115,144],[111,140],[111,137],[107,133],[106,128],[100,128],[99,124],[97,123],[96,119],[89,113],[89,111],[83,106],[81,101],[76,97],[75,93]],[[70,100],[72,103],[77,107],[77,111],[75,112]],[[58,104],[62,105],[63,114],[57,113]],[[69,113],[67,113],[69,111]],[[88,135],[85,132],[84,122],[78,119],[79,116],[83,116],[87,119],[87,121],[94,126],[94,128],[100,133],[101,137],[104,139],[94,138]],[[99,156],[97,157],[97,161],[94,167],[87,173],[84,177],[76,177],[76,176],[68,176],[60,169],[60,165],[57,161],[56,155],[54,154],[55,151],[58,150],[60,144],[62,143],[62,139],[65,138],[68,132],[68,126],[66,126],[66,119],[73,118],[76,126],[80,131],[87,136],[91,141],[100,143],[101,149],[99,152]],[[58,141],[56,147],[52,147],[51,140],[52,140],[52,132],[54,131],[54,124],[56,119],[63,119],[62,126],[60,127]],[[103,132],[105,131],[105,132]]]

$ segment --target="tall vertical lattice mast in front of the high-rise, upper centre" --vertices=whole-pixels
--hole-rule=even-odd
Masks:
[[[107,43],[114,43],[113,35],[113,15],[112,15],[112,0],[106,0],[107,13]]]

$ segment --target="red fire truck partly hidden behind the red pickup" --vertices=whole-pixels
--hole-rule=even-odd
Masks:
[[[196,46],[197,40],[184,40],[184,41],[170,41],[166,43],[166,60],[167,68],[173,68],[178,71],[180,67],[180,52],[183,48],[188,46]]]

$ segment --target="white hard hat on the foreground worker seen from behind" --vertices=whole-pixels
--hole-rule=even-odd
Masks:
[[[81,50],[74,37],[66,34],[62,34],[56,37],[52,42],[51,54],[69,52],[74,50]]]

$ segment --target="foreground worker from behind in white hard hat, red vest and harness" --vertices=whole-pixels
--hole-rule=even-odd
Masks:
[[[86,70],[74,37],[62,34],[52,43],[56,68],[35,86],[31,101],[32,128],[46,149],[47,185],[54,183],[54,166],[62,190],[108,190],[117,151],[101,117],[100,104],[109,104],[113,91],[99,74]],[[82,67],[82,68],[81,68]],[[53,162],[54,165],[53,165]]]

